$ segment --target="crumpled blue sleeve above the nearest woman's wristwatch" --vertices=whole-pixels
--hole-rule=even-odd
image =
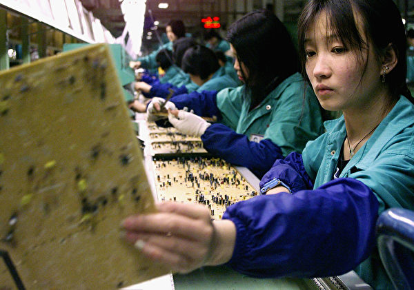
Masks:
[[[277,159],[260,180],[260,188],[274,178],[279,178],[292,192],[313,189],[313,181],[306,173],[302,154],[292,152],[284,159]]]

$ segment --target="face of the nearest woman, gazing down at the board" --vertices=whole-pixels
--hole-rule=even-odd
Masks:
[[[306,74],[325,110],[357,110],[375,102],[382,87],[382,67],[371,43],[369,51],[362,50],[362,57],[348,50],[327,31],[326,14],[322,12],[306,32],[304,45]]]

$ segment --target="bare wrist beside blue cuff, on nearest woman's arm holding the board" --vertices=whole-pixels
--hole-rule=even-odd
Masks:
[[[231,220],[213,220],[214,234],[205,265],[221,265],[233,256],[236,226]]]

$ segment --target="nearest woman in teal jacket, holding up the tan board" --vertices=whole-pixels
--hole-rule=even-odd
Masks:
[[[308,278],[354,269],[374,289],[393,289],[375,222],[388,207],[414,208],[401,19],[392,0],[308,1],[299,54],[322,107],[343,116],[302,155],[277,160],[261,181],[267,194],[231,205],[223,220],[202,205],[162,203],[124,220],[126,238],[175,272],[227,263],[251,276]]]

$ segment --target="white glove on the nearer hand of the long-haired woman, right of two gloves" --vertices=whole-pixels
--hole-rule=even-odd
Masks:
[[[204,134],[208,126],[211,125],[204,118],[183,110],[178,111],[177,117],[169,113],[168,121],[181,133],[197,137]]]

